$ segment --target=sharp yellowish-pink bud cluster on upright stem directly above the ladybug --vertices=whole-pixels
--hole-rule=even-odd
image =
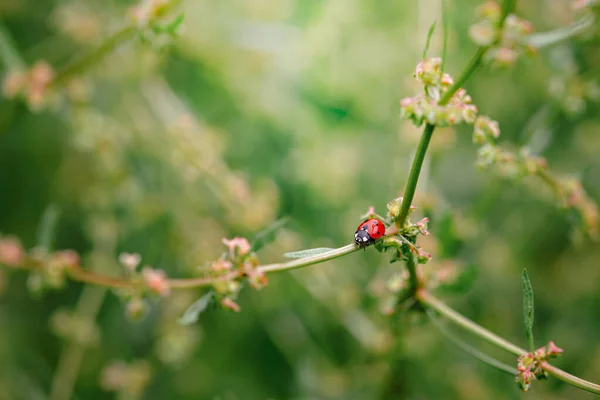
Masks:
[[[471,96],[459,89],[445,105],[438,104],[442,96],[452,87],[452,77],[441,71],[442,59],[430,58],[421,61],[415,69],[415,78],[425,87],[425,93],[406,97],[400,101],[400,117],[410,119],[415,125],[423,122],[440,127],[472,124],[477,117],[477,107]]]

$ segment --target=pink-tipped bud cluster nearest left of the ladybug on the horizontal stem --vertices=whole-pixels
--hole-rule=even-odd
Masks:
[[[255,289],[262,289],[268,284],[267,276],[261,271],[256,253],[248,240],[241,237],[223,239],[227,252],[213,262],[207,275],[214,281],[215,296],[221,305],[233,311],[240,311],[236,298],[242,288],[240,279],[246,277]]]

